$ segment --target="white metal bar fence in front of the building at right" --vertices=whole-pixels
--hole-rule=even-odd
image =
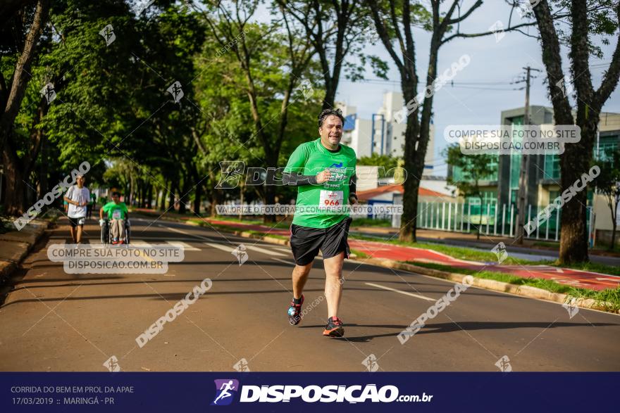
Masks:
[[[526,222],[535,220],[544,206],[528,205]],[[590,211],[587,208],[588,231]],[[524,232],[526,238],[558,241],[562,213],[554,210],[547,215],[545,222],[538,225],[531,234]],[[417,227],[438,229],[440,231],[471,232],[479,227],[480,233],[494,236],[515,236],[519,222],[515,205],[497,205],[496,203],[418,203]]]

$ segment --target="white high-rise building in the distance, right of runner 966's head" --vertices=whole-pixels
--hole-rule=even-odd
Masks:
[[[407,122],[397,123],[394,114],[402,110],[404,99],[399,92],[390,91],[383,94],[383,105],[378,108],[376,113],[371,115],[371,119],[361,119],[357,116],[355,106],[347,106],[344,103],[337,103],[345,115],[345,133],[342,136],[342,143],[351,146],[358,158],[370,156],[373,153],[380,155],[392,155],[401,158],[404,148],[404,131]],[[433,153],[435,151],[435,128],[430,125],[428,147],[426,148],[426,158],[424,173],[433,172]]]

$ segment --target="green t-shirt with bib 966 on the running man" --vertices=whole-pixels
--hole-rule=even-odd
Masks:
[[[316,175],[329,169],[331,176],[323,184],[299,186],[293,224],[327,228],[349,216],[343,208],[349,203],[349,181],[355,174],[356,160],[349,146],[340,144],[339,151],[330,152],[321,144],[321,138],[297,146],[284,172]]]

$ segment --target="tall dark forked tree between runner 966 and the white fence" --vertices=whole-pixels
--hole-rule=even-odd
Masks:
[[[438,61],[441,46],[457,37],[480,37],[494,34],[496,30],[482,33],[460,32],[461,23],[469,18],[474,11],[482,6],[482,0],[476,0],[461,13],[461,0],[446,1],[447,7],[442,8],[442,0],[429,0],[430,8],[419,1],[383,0],[370,1],[370,7],[376,30],[381,42],[395,62],[401,78],[401,89],[407,108],[407,127],[405,129],[404,168],[407,170],[407,181],[404,182],[403,215],[399,238],[402,241],[416,241],[416,217],[418,190],[424,170],[424,158],[430,134],[430,121],[433,117],[433,95],[441,85],[438,77]],[[564,17],[562,14],[552,15],[552,19]],[[512,12],[504,32],[521,31],[523,27],[534,23],[512,24]],[[422,83],[425,88],[418,95],[420,82],[416,74],[415,42],[412,30],[420,27],[431,33],[428,47],[428,68],[426,79]],[[394,46],[397,44],[397,47]],[[397,53],[399,52],[399,53]]]

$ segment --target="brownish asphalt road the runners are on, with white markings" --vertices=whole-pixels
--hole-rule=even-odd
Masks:
[[[285,246],[132,217],[135,243],[180,242],[185,259],[168,274],[66,274],[46,255],[68,241],[66,223],[27,258],[0,307],[1,371],[106,371],[112,356],[125,371],[499,371],[502,357],[512,371],[620,370],[618,315],[580,309],[571,319],[562,305],[471,287],[402,345],[398,333],[454,283],[347,261],[345,337],[325,338],[320,259],[308,312],[290,326]],[[87,242],[99,243],[88,224]],[[242,265],[230,252],[240,244]],[[140,348],[135,338],[205,278],[211,289]]]

